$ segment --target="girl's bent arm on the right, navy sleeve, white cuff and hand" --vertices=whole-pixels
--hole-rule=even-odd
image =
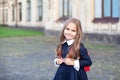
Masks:
[[[79,71],[80,68],[84,69],[85,66],[90,66],[92,64],[88,51],[83,44],[80,45],[80,59],[72,60],[70,58],[65,58],[63,62],[67,65],[73,65],[77,71]]]

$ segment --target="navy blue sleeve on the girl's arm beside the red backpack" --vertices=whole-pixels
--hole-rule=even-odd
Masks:
[[[80,59],[79,59],[80,68],[83,68],[85,66],[91,66],[92,61],[90,56],[88,55],[87,49],[84,47],[84,45],[80,44]]]

